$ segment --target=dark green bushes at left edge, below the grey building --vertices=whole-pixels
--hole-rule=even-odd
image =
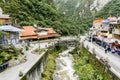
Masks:
[[[17,58],[20,54],[23,54],[22,49],[16,49],[12,45],[8,47],[0,46],[0,64],[9,61],[12,58]]]

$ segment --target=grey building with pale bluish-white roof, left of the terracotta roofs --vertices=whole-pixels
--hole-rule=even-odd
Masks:
[[[22,30],[19,28],[16,28],[12,25],[3,25],[0,26],[0,30],[4,31],[6,34],[2,35],[0,38],[0,44],[2,45],[9,45],[9,44],[17,44],[19,43],[19,32]]]

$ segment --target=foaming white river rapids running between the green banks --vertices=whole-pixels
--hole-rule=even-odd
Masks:
[[[68,50],[59,53],[59,57],[55,60],[56,70],[53,74],[53,80],[79,80],[73,67],[73,56],[69,54],[73,49],[73,47],[70,47]]]

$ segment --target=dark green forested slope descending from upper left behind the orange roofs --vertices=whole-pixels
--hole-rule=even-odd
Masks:
[[[37,24],[42,27],[53,27],[62,35],[77,35],[85,32],[91,26],[88,18],[72,19],[57,11],[52,0],[2,0],[0,5],[4,13],[10,14],[13,24],[21,26]],[[72,5],[67,7],[70,6]],[[71,9],[72,11],[73,9]]]

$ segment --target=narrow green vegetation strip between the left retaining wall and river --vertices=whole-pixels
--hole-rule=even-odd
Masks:
[[[41,80],[52,80],[52,74],[55,70],[55,58],[65,49],[66,47],[55,46],[55,48],[48,51],[48,61],[46,63],[45,71],[42,73]]]

